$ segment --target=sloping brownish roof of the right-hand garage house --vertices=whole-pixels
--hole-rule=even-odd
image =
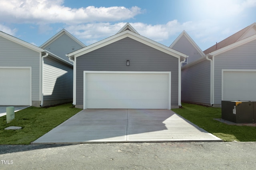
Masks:
[[[206,49],[204,51],[204,54],[212,53],[213,51],[216,51],[218,49],[221,49],[223,47],[226,47],[230,44],[236,43],[242,39],[245,39],[247,37],[250,37],[252,35],[256,34],[256,23],[245,27],[244,29],[238,31],[237,33],[234,33],[230,37],[220,41],[219,43],[216,43],[216,45],[213,45],[212,47]]]

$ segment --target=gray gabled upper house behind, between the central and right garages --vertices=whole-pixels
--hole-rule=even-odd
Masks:
[[[182,31],[182,33],[175,39],[175,41],[170,45],[170,48],[189,56],[186,61],[182,63],[182,66],[192,63],[204,56],[204,52],[198,47],[185,30]]]

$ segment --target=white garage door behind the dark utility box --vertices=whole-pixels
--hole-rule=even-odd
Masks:
[[[256,72],[224,71],[223,100],[256,101]]]

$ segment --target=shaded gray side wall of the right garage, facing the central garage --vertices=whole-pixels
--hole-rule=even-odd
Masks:
[[[181,100],[210,104],[210,61],[182,68]]]

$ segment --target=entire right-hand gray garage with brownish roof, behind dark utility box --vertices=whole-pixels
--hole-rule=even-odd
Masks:
[[[204,53],[182,67],[182,101],[218,107],[222,100],[256,101],[256,23]]]

